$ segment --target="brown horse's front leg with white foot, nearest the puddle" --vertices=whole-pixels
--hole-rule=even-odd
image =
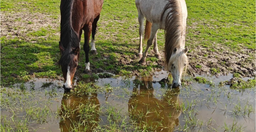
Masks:
[[[83,31],[85,31],[85,44],[83,45],[83,50],[85,51],[85,71],[90,71],[90,62],[89,62],[89,39],[92,32],[92,23],[89,25],[85,25],[83,28]]]

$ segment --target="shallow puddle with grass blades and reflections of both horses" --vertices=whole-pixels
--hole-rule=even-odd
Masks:
[[[196,79],[200,83],[209,83],[207,79],[202,77]],[[85,129],[93,129],[94,131],[122,131],[125,128],[127,131],[132,129],[142,132],[155,131],[157,128],[168,129],[166,128],[166,124],[161,120],[145,121],[145,119],[151,119],[149,117],[153,116],[154,119],[170,118],[173,120],[174,116],[179,113],[178,111],[182,111],[183,116],[181,119],[184,121],[184,125],[175,127],[177,130],[188,130],[187,132],[189,132],[195,131],[195,128],[200,128],[203,131],[205,127],[214,130],[216,127],[211,124],[218,124],[223,129],[231,132],[233,131],[231,127],[235,127],[238,130],[240,130],[240,127],[241,130],[245,127],[245,125],[236,124],[238,118],[244,117],[248,119],[255,113],[254,105],[250,102],[250,97],[239,100],[236,94],[230,94],[230,89],[225,87],[211,86],[210,91],[200,90],[197,87],[202,84],[197,85],[193,78],[188,79],[187,85],[184,85],[182,89],[170,89],[168,86],[164,86],[162,88],[153,87],[154,89],[149,87],[149,89],[141,91],[142,89],[136,86],[141,86],[143,81],[135,79],[130,82],[130,78],[122,80],[121,84],[125,85],[113,87],[112,83],[107,83],[99,87],[93,82],[79,82],[72,92],[65,93],[65,97],[63,98],[67,98],[66,101],[63,98],[61,101],[62,95],[56,89],[38,93],[36,90],[28,92],[26,89],[4,88],[1,89],[1,109],[11,110],[15,113],[14,115],[18,113],[25,114],[19,118],[13,116],[12,118],[15,123],[20,122],[20,120],[33,120],[34,123],[45,124],[49,121],[49,117],[53,117],[60,119],[61,129],[64,129],[66,124],[74,126],[68,128],[69,131],[84,131]],[[127,89],[132,84],[137,85],[132,86],[134,87],[133,90]],[[157,85],[159,84],[157,83]],[[202,87],[205,87],[205,85],[202,85]],[[40,94],[43,96],[39,96]],[[97,98],[95,98],[95,95],[98,95]],[[45,100],[45,96],[47,96],[47,100]],[[104,96],[105,98],[109,97],[111,99],[105,100]],[[180,98],[180,96],[185,98]],[[223,102],[223,96],[228,97],[224,99],[225,102]],[[73,100],[72,98],[74,97],[81,99]],[[102,97],[103,100],[100,99]],[[33,100],[39,100],[39,102]],[[53,103],[56,100],[62,102],[59,103],[61,107],[58,107],[57,113],[52,109],[52,105],[56,105]],[[99,105],[96,100],[103,103]],[[147,100],[151,100],[151,102],[149,103]],[[65,103],[63,103],[64,101]],[[132,107],[130,106],[127,112],[125,108],[131,104]],[[20,107],[21,105],[25,105],[25,109]],[[215,117],[209,118],[208,120],[200,120],[198,112],[204,106],[212,111],[214,109],[228,111],[230,115],[225,116],[228,118],[233,117],[234,124],[232,122],[224,122],[226,125],[219,124],[215,122]],[[164,109],[167,108],[171,108],[168,111],[170,113],[163,115]],[[100,125],[101,123],[99,122],[102,122],[102,120],[98,117],[99,115],[106,119],[104,120],[105,125]],[[2,122],[5,124],[1,125],[1,130],[15,128],[20,131],[27,131],[27,127],[24,126],[30,124],[30,122],[14,124],[8,120],[10,117],[6,117],[5,115],[1,115],[1,118],[3,118]],[[177,124],[178,122],[179,120],[175,119],[173,123]]]

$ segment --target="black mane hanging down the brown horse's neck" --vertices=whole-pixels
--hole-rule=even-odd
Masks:
[[[73,2],[74,0],[61,0],[60,4],[60,44],[65,49],[59,60],[60,65],[72,63],[72,50],[80,47],[78,34],[72,27]]]

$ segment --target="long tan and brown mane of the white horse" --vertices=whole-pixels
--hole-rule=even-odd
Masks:
[[[160,27],[163,17],[166,15],[165,20],[165,45],[164,54],[166,64],[169,64],[169,59],[175,47],[179,48],[182,41],[182,9],[179,0],[168,0],[167,5],[164,7],[161,14]]]

